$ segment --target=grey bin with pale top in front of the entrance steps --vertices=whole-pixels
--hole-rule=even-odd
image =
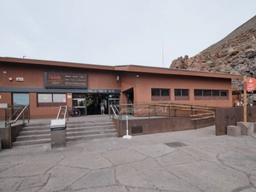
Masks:
[[[66,141],[66,119],[53,119],[50,124],[51,148],[65,148]]]

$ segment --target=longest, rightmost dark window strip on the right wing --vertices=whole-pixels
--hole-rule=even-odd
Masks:
[[[228,90],[194,90],[195,100],[229,100]]]

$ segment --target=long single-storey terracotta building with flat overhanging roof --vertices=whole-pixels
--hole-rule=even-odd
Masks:
[[[31,118],[55,117],[59,107],[100,114],[100,102],[184,103],[232,107],[231,79],[241,75],[135,65],[100,66],[0,57],[0,103],[30,105]]]

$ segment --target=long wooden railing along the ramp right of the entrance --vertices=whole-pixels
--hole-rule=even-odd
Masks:
[[[177,103],[134,103],[119,104],[119,110],[111,105],[114,117],[131,114],[136,117],[189,117],[191,120],[215,118],[215,108],[208,106],[177,104]]]

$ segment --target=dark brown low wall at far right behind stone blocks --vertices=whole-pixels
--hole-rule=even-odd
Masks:
[[[216,108],[215,119],[216,136],[226,135],[227,125],[236,125],[236,122],[243,121],[243,107]],[[256,122],[256,106],[247,107],[247,122]]]

